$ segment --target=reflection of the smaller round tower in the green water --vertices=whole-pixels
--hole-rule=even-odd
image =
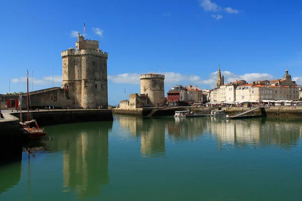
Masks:
[[[148,120],[148,129],[141,132],[141,156],[164,156],[165,149],[165,121]]]

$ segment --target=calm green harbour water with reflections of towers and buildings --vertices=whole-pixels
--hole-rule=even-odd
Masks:
[[[114,116],[47,126],[0,200],[302,200],[302,120]]]

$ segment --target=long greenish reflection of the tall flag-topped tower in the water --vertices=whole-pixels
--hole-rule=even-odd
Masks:
[[[90,129],[66,141],[63,154],[64,191],[76,190],[81,198],[98,196],[108,183],[108,129]]]

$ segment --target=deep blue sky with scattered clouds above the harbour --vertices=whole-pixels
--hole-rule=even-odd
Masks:
[[[74,32],[108,52],[108,103],[140,92],[139,74],[213,88],[218,64],[225,80],[281,78],[286,67],[302,84],[302,1],[110,0],[3,1],[0,93],[61,86],[60,53]],[[32,84],[30,83],[30,89]]]

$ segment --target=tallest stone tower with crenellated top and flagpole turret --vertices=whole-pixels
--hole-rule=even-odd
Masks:
[[[108,107],[108,53],[99,49],[99,41],[85,40],[78,34],[76,50],[61,52],[66,96],[74,106],[97,109]]]

